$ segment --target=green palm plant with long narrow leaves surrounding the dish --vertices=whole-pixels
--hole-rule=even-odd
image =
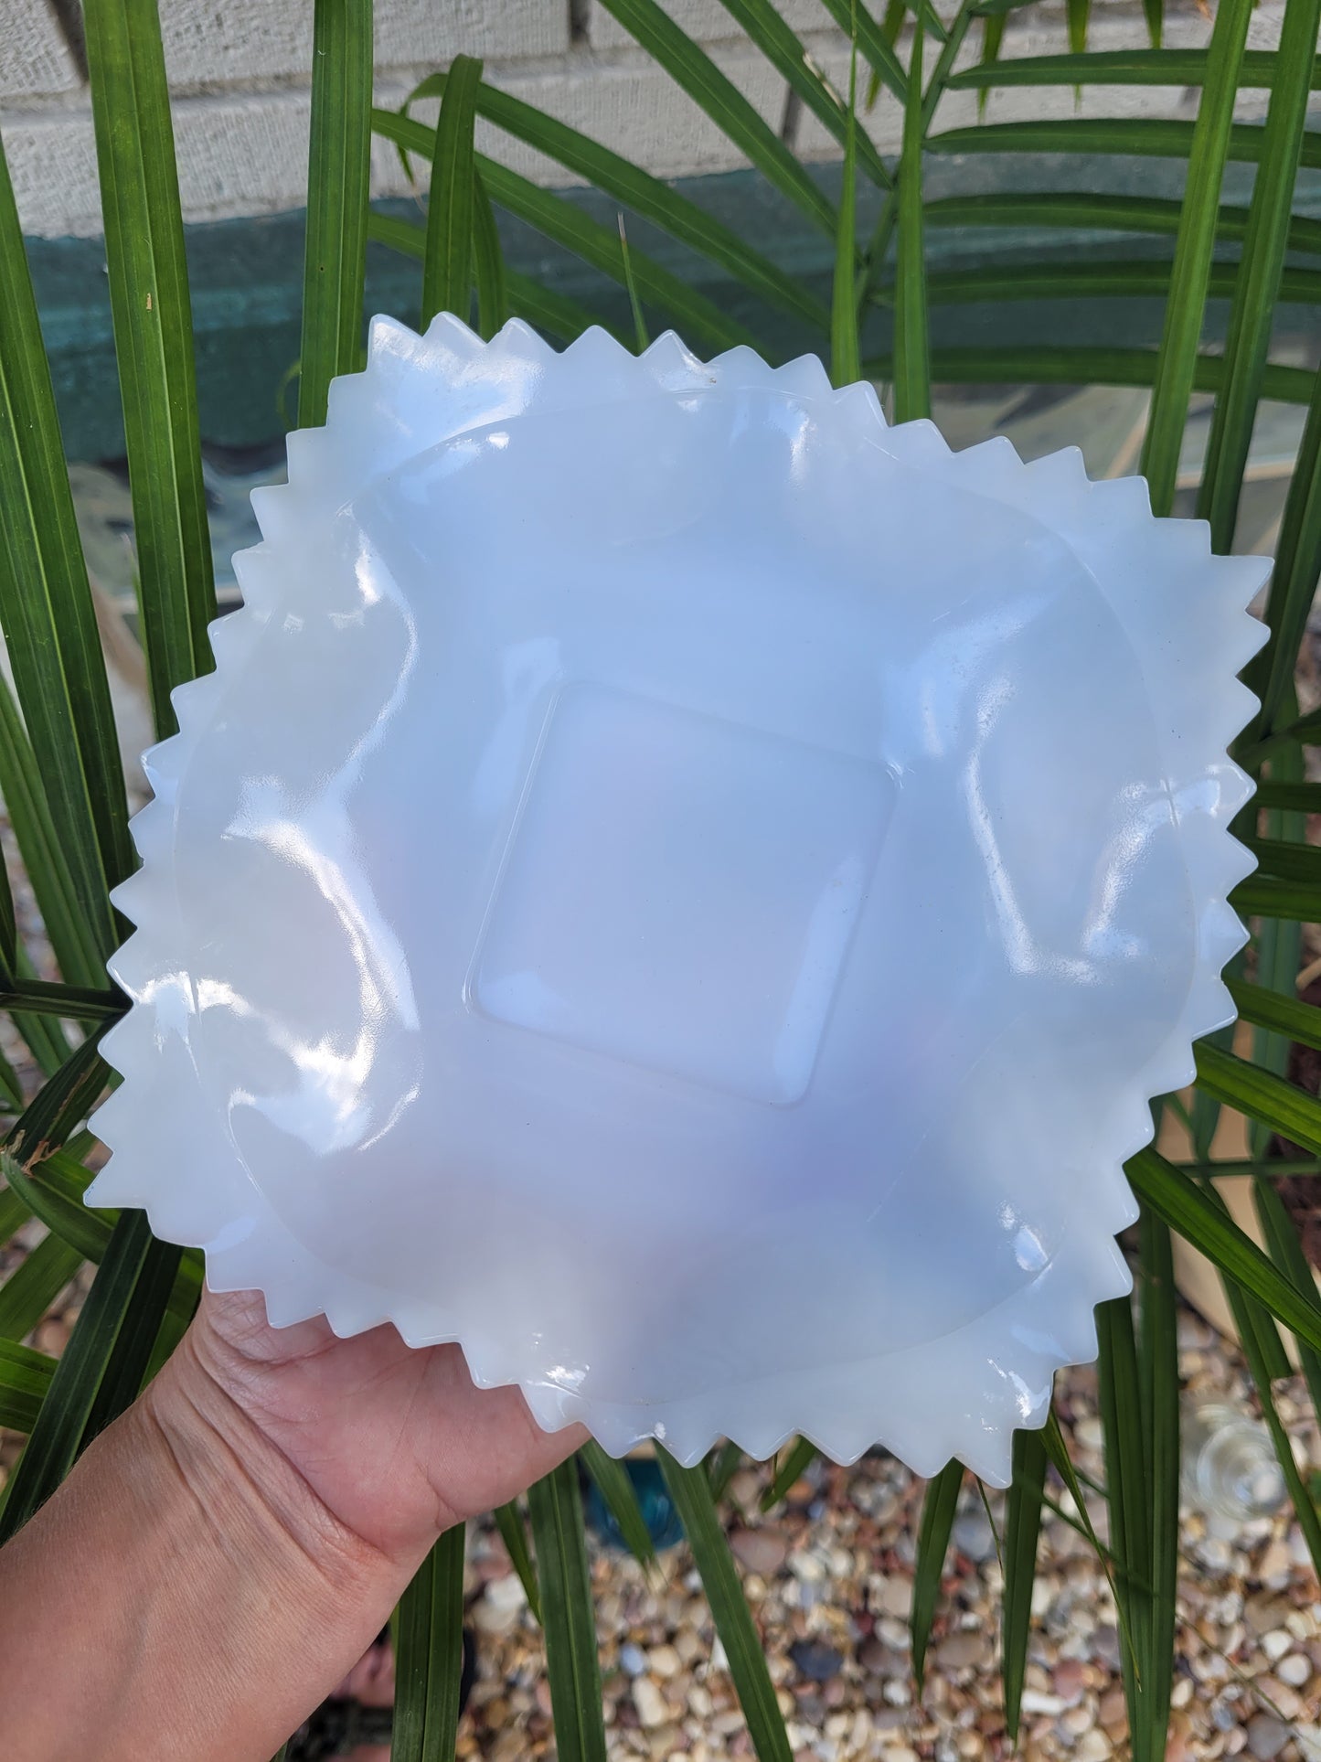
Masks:
[[[1307,129],[1317,83],[1321,0],[1288,0],[1280,48],[1247,51],[1251,0],[1219,0],[1203,51],[1161,48],[1161,0],[1147,0],[1152,48],[1094,53],[1085,48],[1087,0],[1069,0],[1067,55],[1000,60],[1006,12],[1015,0],[958,0],[937,14],[930,0],[889,0],[877,19],[861,0],[823,0],[849,32],[852,78],[840,95],[803,53],[773,0],[724,0],[742,30],[787,81],[798,102],[835,137],[842,155],[838,199],[768,127],[747,99],[690,41],[657,0],[601,0],[638,42],[690,93],[768,185],[833,248],[833,294],[784,270],[722,218],[641,167],[483,83],[477,62],[458,58],[414,93],[440,99],[430,127],[402,111],[372,107],[372,0],[317,0],[312,76],[312,152],[299,363],[298,421],[324,421],[336,374],[358,368],[368,238],[421,264],[423,317],[476,308],[491,335],[518,314],[558,340],[572,340],[599,315],[506,266],[495,211],[513,215],[567,247],[627,294],[629,342],[646,322],[673,322],[697,347],[757,344],[757,314],[787,319],[828,352],[837,382],[865,374],[891,388],[897,419],[928,414],[937,382],[1133,384],[1150,389],[1141,469],[1155,513],[1170,513],[1189,400],[1214,393],[1198,513],[1217,550],[1235,537],[1252,426],[1263,398],[1305,405],[1307,419],[1279,532],[1270,589],[1270,641],[1251,670],[1261,698],[1238,759],[1258,779],[1240,835],[1259,869],[1236,892],[1254,937],[1231,974],[1251,1057],[1228,1041],[1198,1048],[1198,1087],[1189,1112],[1192,1158],[1173,1163],[1148,1149],[1129,1177],[1141,1200],[1136,1230],[1136,1304],[1117,1300],[1097,1316],[1110,1545],[1103,1551],[1124,1632],[1124,1686],[1133,1750],[1140,1762],[1162,1753],[1170,1714],[1175,1581],[1178,1570],[1178,1364],[1171,1233],[1219,1269],[1251,1374],[1302,1533],[1321,1568],[1321,1519],[1289,1452],[1272,1380],[1288,1360],[1280,1329],[1302,1348],[1312,1401],[1321,1411],[1321,1304],[1295,1232],[1272,1182],[1275,1136],[1307,1158],[1291,1168],[1321,1173],[1321,1101],[1288,1078],[1291,1043],[1321,1048],[1321,1008],[1300,1003],[1302,927],[1321,920],[1321,853],[1305,842],[1305,816],[1321,812],[1321,784],[1305,777],[1305,749],[1321,745],[1321,712],[1300,715],[1293,677],[1321,573],[1321,375],[1270,359],[1282,298],[1316,301],[1309,268],[1321,227],[1295,213],[1300,166],[1321,164],[1321,134]],[[828,21],[823,14],[823,21]],[[157,731],[174,728],[169,692],[210,668],[208,620],[215,617],[206,504],[201,478],[185,240],[171,136],[169,97],[155,0],[85,0],[100,164],[106,257],[123,396],[137,550],[139,620]],[[979,32],[981,60],[962,70],[960,51]],[[900,42],[907,33],[907,58]],[[941,132],[941,97],[997,85],[1085,86],[1115,83],[1199,88],[1196,122],[1087,120],[983,123]],[[1244,88],[1266,88],[1265,123],[1233,120]],[[874,99],[902,107],[902,153],[884,159],[858,123]],[[474,122],[539,150],[613,199],[636,231],[659,229],[706,259],[738,300],[713,301],[646,250],[627,226],[602,226],[581,204],[541,189],[474,150]],[[417,222],[368,204],[372,132],[393,141],[428,176],[430,201]],[[1055,181],[1032,192],[958,194],[925,203],[928,155],[1050,152]],[[1159,155],[1185,167],[1180,201],[1076,189],[1062,174],[1069,155]],[[1249,204],[1222,201],[1226,166],[1256,167]],[[860,224],[860,215],[868,224]],[[1037,255],[1002,273],[926,275],[925,229],[1032,226],[1085,231],[1092,248],[1060,261]],[[1155,254],[1133,255],[1134,238]],[[1117,243],[1115,243],[1117,241]],[[1127,252],[1127,255],[1125,255]],[[981,278],[979,278],[981,277]],[[930,342],[930,314],[951,301],[1022,298],[1083,301],[1159,294],[1164,328],[1157,349],[1034,344],[946,347]],[[1224,345],[1207,351],[1207,301],[1228,298]],[[731,315],[731,307],[740,314]],[[881,338],[877,345],[875,338]],[[768,352],[775,352],[768,345]],[[100,640],[79,548],[69,478],[42,352],[39,312],[23,238],[0,155],[0,618],[12,661],[12,692],[0,684],[0,793],[30,876],[60,981],[33,976],[0,869],[0,1008],[11,1017],[44,1084],[26,1096],[0,1057],[4,1133],[0,1242],[28,1219],[48,1228],[0,1288],[0,1425],[26,1433],[25,1452],[4,1489],[0,1536],[12,1533],[67,1473],[77,1454],[137,1394],[178,1343],[201,1284],[194,1251],[151,1237],[136,1212],[93,1212],[81,1193],[93,1149],[86,1115],[113,1082],[99,1036],[123,1008],[107,988],[104,960],[123,932],[109,888],[134,865]],[[1229,1105],[1254,1122],[1252,1158],[1235,1163],[1256,1188],[1266,1251],[1228,1216],[1210,1159],[1217,1110]],[[1228,1165],[1226,1165],[1228,1166]],[[93,1262],[95,1279],[67,1350],[51,1357],[21,1344],[55,1295]],[[810,1445],[777,1464],[770,1498],[801,1473]],[[757,1630],[726,1544],[720,1498],[736,1452],[683,1470],[660,1450],[662,1470],[701,1572],[749,1730],[763,1762],[789,1762]],[[639,1552],[650,1544],[627,1473],[599,1448],[583,1452],[616,1521]],[[1004,1706],[1016,1734],[1029,1646],[1030,1595],[1050,1471],[1073,1496],[1092,1535],[1089,1492],[1074,1473],[1066,1429],[1020,1433],[1007,1496],[1004,1552]],[[918,1545],[912,1642],[918,1670],[939,1596],[955,1505],[963,1480],[951,1462],[928,1487]],[[546,1639],[562,1762],[606,1753],[590,1579],[576,1470],[535,1485],[527,1514],[495,1514]],[[530,1531],[530,1533],[528,1533]],[[453,1753],[458,1716],[463,1538],[437,1545],[398,1614],[400,1699],[395,1755]],[[1099,1544],[1096,1544],[1099,1547]]]

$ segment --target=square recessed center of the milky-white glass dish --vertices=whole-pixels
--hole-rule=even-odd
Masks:
[[[514,828],[472,1003],[653,1071],[798,1101],[893,795],[865,759],[571,687]]]

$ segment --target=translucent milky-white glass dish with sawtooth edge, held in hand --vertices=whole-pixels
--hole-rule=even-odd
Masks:
[[[1004,1484],[1231,1018],[1266,564],[810,358],[451,317],[254,504],[93,1202],[613,1452]]]

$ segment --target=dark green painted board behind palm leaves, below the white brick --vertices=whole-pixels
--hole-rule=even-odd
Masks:
[[[814,169],[814,176],[831,197],[838,185],[838,166]],[[948,194],[990,190],[1090,189],[1115,194],[1177,196],[1182,171],[1164,160],[1066,160],[1059,155],[974,155],[965,160],[932,157],[926,174],[930,199]],[[831,245],[787,201],[754,173],[727,173],[689,178],[678,185],[687,196],[710,208],[722,220],[773,255],[786,270],[801,277],[812,291],[830,301]],[[1231,167],[1226,201],[1242,203],[1251,190],[1251,167]],[[594,217],[613,222],[615,204],[594,190],[569,192]],[[860,201],[860,236],[874,220],[868,204],[875,192]],[[387,211],[416,218],[416,203],[380,204]],[[1321,215],[1321,174],[1300,180],[1298,211]],[[604,277],[588,270],[569,252],[548,245],[539,234],[509,215],[500,215],[500,238],[513,268],[544,280],[546,285],[572,294],[615,321],[631,326],[627,296]],[[1069,259],[1080,240],[1089,252],[1115,257],[1161,255],[1168,250],[1159,238],[1136,234],[1020,233],[1006,227],[932,229],[928,234],[934,270],[960,264],[1004,263],[1030,252],[1034,259]],[[717,300],[759,338],[775,359],[801,351],[823,351],[824,337],[771,312],[742,287],[683,245],[638,218],[629,218],[629,240],[652,252],[666,268]],[[252,220],[222,220],[188,229],[188,277],[194,298],[197,337],[197,384],[203,433],[213,446],[257,446],[284,432],[278,389],[298,356],[298,301],[301,289],[303,215],[269,215]],[[60,418],[70,458],[118,458],[123,451],[114,352],[111,345],[109,300],[104,254],[99,240],[30,240],[33,278],[42,310],[42,328],[51,352]],[[370,248],[368,312],[391,312],[416,319],[419,305],[419,268],[384,247]],[[664,324],[664,314],[648,314],[652,331]],[[1291,322],[1302,322],[1293,314]],[[1210,335],[1224,322],[1224,312],[1212,308]],[[962,305],[937,308],[932,315],[935,345],[1030,342],[1080,342],[1094,345],[1155,344],[1161,333],[1161,301],[1115,300],[1092,303],[1015,301],[1009,305]],[[888,314],[874,312],[863,337],[863,354],[884,352],[889,345]]]

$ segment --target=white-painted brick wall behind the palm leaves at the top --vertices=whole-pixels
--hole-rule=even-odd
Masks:
[[[1261,0],[1252,42],[1272,46],[1282,0]],[[733,28],[719,0],[666,0],[685,28],[708,42],[712,58],[771,127],[786,116],[784,81]],[[780,0],[805,35],[815,63],[847,88],[847,46],[831,30],[821,0]],[[879,0],[874,0],[879,7]],[[192,220],[273,213],[303,203],[306,176],[310,0],[160,0],[167,65],[176,88],[174,134],[185,213]],[[486,78],[550,115],[627,153],[660,176],[727,171],[740,155],[715,123],[615,26],[599,4],[574,9],[587,41],[571,41],[569,0],[377,0],[377,92],[398,104],[416,81],[460,51],[488,58]],[[808,30],[808,26],[812,26]],[[1210,26],[1194,0],[1168,7],[1171,46],[1207,42]],[[965,62],[978,58],[978,32]],[[1097,48],[1140,46],[1141,11],[1101,0],[1092,12]],[[1011,14],[1004,55],[1039,55],[1066,46],[1059,5]],[[1085,113],[1192,115],[1196,93],[1143,86],[1090,88]],[[1244,100],[1261,111],[1265,93]],[[992,93],[988,120],[1071,116],[1069,86]],[[46,0],[0,0],[0,120],[25,227],[33,234],[100,231],[95,155],[77,63]],[[976,93],[946,97],[939,125],[978,120]],[[898,146],[900,116],[882,93],[867,118],[877,144]],[[838,157],[810,113],[793,123],[793,144],[808,159]],[[483,152],[546,183],[567,174],[481,123]],[[395,150],[377,143],[377,194],[403,194]]]

